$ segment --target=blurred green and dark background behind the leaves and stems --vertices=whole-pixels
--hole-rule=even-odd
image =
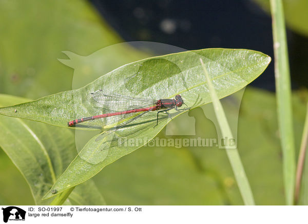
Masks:
[[[308,1],[283,2],[298,148],[308,96]],[[272,63],[244,92],[238,148],[256,203],[284,203],[267,0],[0,0],[0,21],[0,94],[33,100],[72,88],[74,69],[69,60],[79,58],[76,55],[87,56],[122,42],[159,42],[175,46],[171,51],[246,48],[270,55]],[[98,55],[96,64],[82,67],[86,69],[80,69],[79,76],[100,76],[127,61],[170,53],[129,43],[112,49],[114,63],[100,65],[104,59]],[[213,122],[201,108],[189,116],[198,118],[196,136],[217,138]],[[165,130],[158,137],[164,136]],[[0,160],[4,183],[0,203],[33,204],[26,181],[3,151]],[[93,179],[110,205],[243,204],[225,152],[215,147],[142,147]]]

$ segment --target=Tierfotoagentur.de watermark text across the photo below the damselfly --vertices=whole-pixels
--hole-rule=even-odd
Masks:
[[[133,147],[133,146],[148,146],[148,147],[219,147],[219,148],[236,148],[236,140],[234,138],[119,138],[118,146]]]

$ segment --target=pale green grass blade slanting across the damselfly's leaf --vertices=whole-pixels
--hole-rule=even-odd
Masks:
[[[205,73],[207,85],[209,88],[209,94],[214,105],[214,110],[221,129],[222,137],[224,139],[229,139],[229,140],[234,139],[228,121],[226,119],[225,113],[223,111],[222,105],[217,97],[215,88],[211,83],[209,74],[205,68],[205,65],[203,64],[202,59],[200,59],[200,62]],[[248,179],[246,177],[246,173],[243,164],[241,162],[241,158],[237,148],[227,148],[226,153],[229,158],[241,195],[243,197],[244,204],[247,206],[254,206],[255,205],[254,196],[251,187],[249,185]]]

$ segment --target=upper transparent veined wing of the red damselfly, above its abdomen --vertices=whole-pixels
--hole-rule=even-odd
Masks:
[[[133,98],[102,89],[91,92],[87,95],[87,100],[93,107],[104,108],[110,111],[148,107],[155,105],[157,102],[157,100],[153,99]]]

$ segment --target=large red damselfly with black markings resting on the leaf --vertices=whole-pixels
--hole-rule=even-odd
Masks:
[[[100,135],[96,139],[96,141],[99,141],[103,137],[106,137],[107,135],[124,127],[130,122],[140,118],[149,111],[158,110],[157,122],[155,125],[157,126],[159,113],[164,112],[168,114],[168,111],[171,109],[176,109],[176,110],[189,109],[189,108],[178,109],[178,107],[181,107],[183,104],[185,104],[180,95],[177,95],[175,99],[152,100],[145,98],[127,97],[117,94],[115,92],[108,92],[100,89],[98,91],[91,92],[91,94],[87,96],[87,100],[90,102],[92,106],[103,108],[104,110],[110,111],[110,113],[76,119],[67,122],[67,124],[70,127],[83,122],[88,122],[89,127],[97,127],[97,126],[103,127],[109,124],[117,124],[113,128],[109,129],[107,132],[104,132],[102,135]],[[123,108],[125,109],[123,110]],[[139,113],[139,114],[137,116],[131,116],[130,114],[132,113],[137,113],[137,114]],[[129,116],[131,118],[129,118]]]

